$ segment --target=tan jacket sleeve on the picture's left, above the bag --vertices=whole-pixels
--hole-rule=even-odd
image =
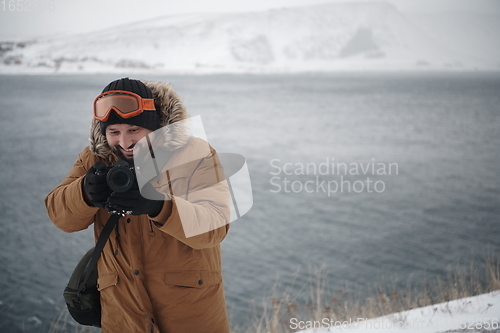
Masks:
[[[85,148],[73,168],[45,198],[45,207],[52,222],[61,230],[75,232],[88,228],[99,208],[89,206],[83,198],[83,178],[92,152]],[[90,161],[90,162],[89,162]]]

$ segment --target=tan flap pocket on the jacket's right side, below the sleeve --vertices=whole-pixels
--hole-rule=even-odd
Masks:
[[[167,271],[165,283],[189,288],[206,288],[220,284],[222,275],[214,271]]]

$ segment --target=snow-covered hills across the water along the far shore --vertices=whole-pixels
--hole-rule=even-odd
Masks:
[[[499,17],[473,17],[407,16],[386,2],[164,16],[87,35],[0,42],[0,73],[498,70]]]

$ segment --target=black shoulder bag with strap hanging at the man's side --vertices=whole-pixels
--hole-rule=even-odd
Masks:
[[[68,311],[81,325],[101,327],[101,301],[97,290],[97,260],[120,215],[113,214],[104,226],[96,246],[90,249],[76,265],[68,285],[64,289],[64,300]]]

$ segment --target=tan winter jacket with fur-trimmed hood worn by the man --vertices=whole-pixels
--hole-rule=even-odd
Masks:
[[[170,85],[144,83],[161,110],[162,126],[188,117]],[[181,127],[172,132],[164,144],[173,152],[168,163],[179,164],[206,147],[205,141],[190,137]],[[74,232],[93,224],[97,239],[110,215],[106,209],[86,204],[83,179],[96,161],[112,165],[116,156],[95,120],[90,141],[68,176],[48,194],[45,204],[58,228]],[[206,188],[207,175],[211,177],[214,168],[221,171],[219,159],[210,148],[198,163],[188,163],[169,174],[169,184],[163,185],[174,193],[170,215],[163,209],[154,218],[120,218],[98,261],[104,333],[229,333],[220,242],[229,227],[230,195],[224,181]],[[220,227],[185,236],[186,227],[204,225]]]

